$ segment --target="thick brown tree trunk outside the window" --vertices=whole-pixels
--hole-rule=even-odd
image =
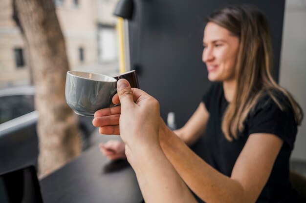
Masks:
[[[69,69],[64,36],[52,0],[14,0],[27,41],[39,111],[39,175],[43,177],[81,151],[77,117],[65,101]]]

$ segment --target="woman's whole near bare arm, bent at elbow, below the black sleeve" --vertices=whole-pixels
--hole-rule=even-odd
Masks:
[[[249,136],[231,177],[201,160],[161,121],[163,152],[184,182],[205,202],[255,202],[268,180],[283,141],[272,134]]]

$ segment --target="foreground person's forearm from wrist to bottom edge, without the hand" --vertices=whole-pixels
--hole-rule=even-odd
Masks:
[[[196,202],[159,145],[142,146],[131,154],[131,165],[146,203]]]

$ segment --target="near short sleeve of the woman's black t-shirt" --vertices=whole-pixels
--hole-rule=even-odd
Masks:
[[[281,138],[293,149],[297,133],[291,105],[284,110],[268,96],[261,99],[248,119],[248,134],[271,133]]]

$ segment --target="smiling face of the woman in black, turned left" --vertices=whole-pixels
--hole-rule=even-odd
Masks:
[[[208,80],[235,80],[235,63],[239,38],[216,23],[208,22],[204,30],[202,61],[206,63]]]

